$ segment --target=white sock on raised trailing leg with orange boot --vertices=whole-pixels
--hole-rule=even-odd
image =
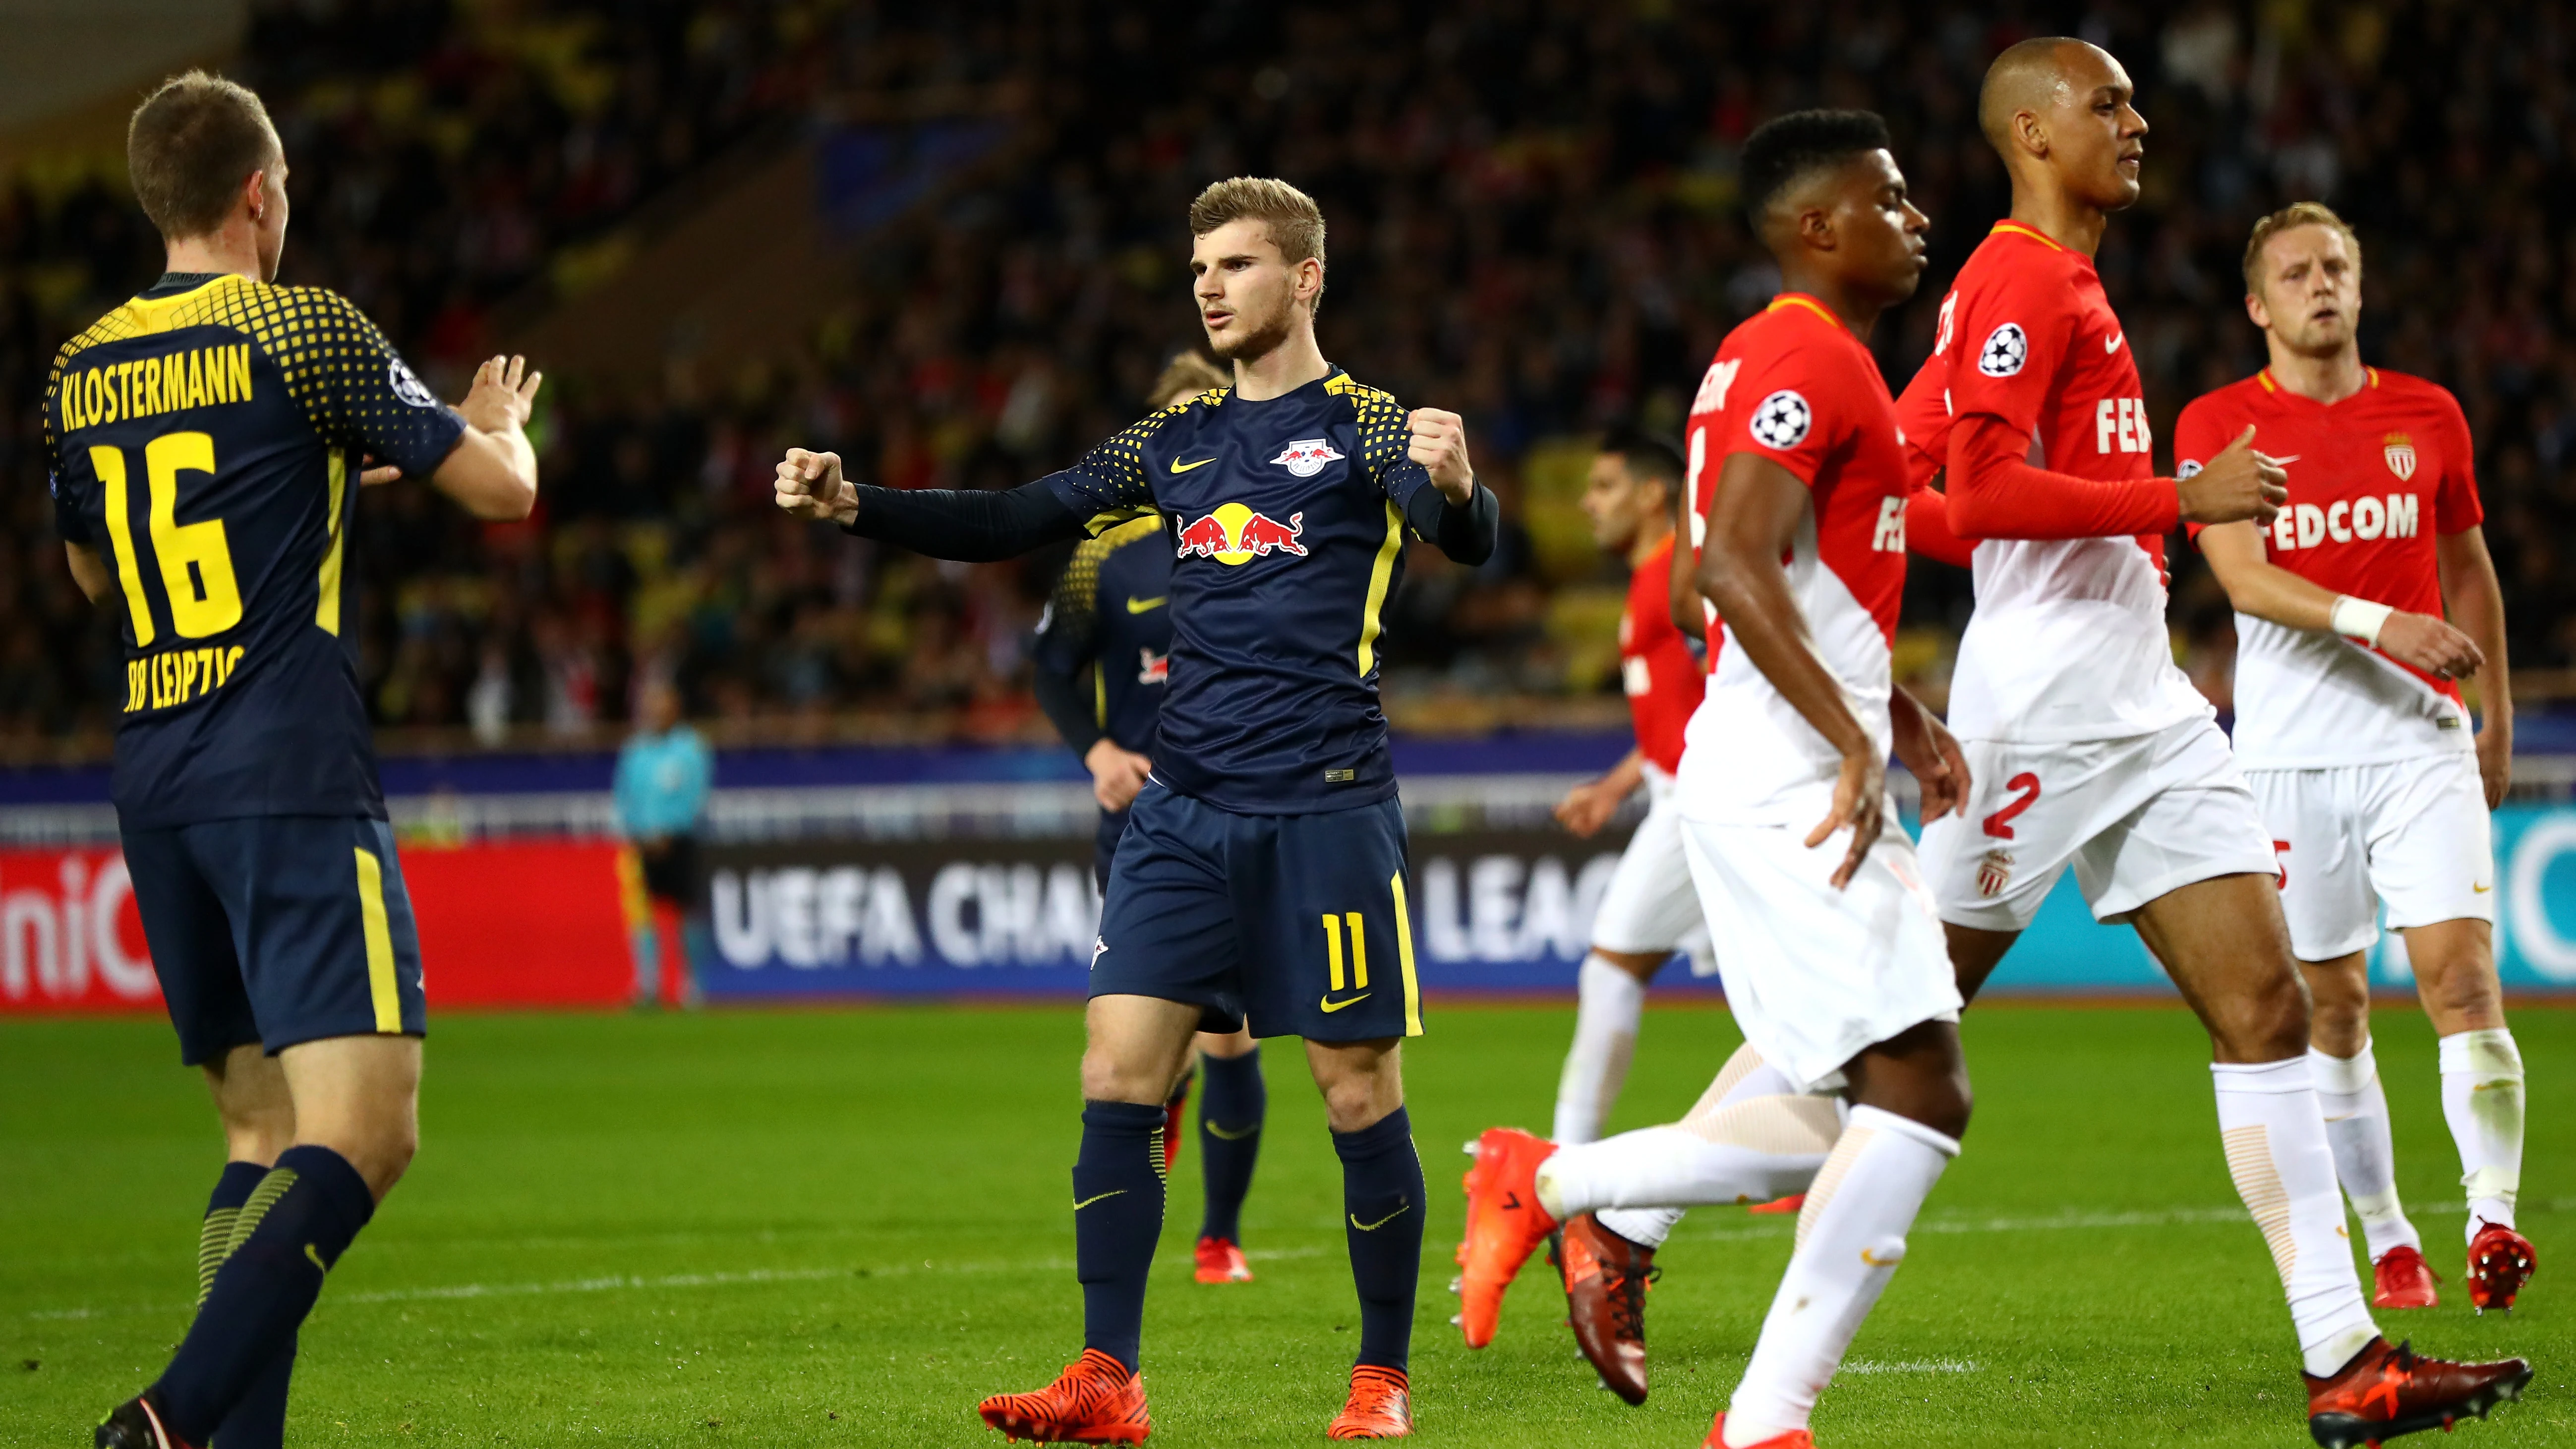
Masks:
[[[1824,1096],[1757,1096],[1705,1117],[1692,1112],[1669,1127],[1558,1148],[1538,1163],[1538,1204],[1564,1220],[1602,1207],[1770,1202],[1806,1192],[1837,1130]]]

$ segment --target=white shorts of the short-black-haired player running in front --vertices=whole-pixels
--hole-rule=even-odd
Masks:
[[[1960,996],[1893,806],[1842,891],[1832,880],[1852,836],[1816,849],[1803,842],[1806,826],[1682,821],[1708,932],[1726,942],[1726,1009],[1762,1060],[1801,1091],[1821,1091],[1842,1084],[1842,1066],[1862,1048],[1922,1022],[1955,1022]]]

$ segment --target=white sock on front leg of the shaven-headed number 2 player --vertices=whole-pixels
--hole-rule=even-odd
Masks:
[[[2362,1279],[2352,1271],[2344,1199],[2334,1186],[2326,1114],[2316,1107],[2308,1058],[2210,1066],[2218,1089],[2218,1140],[2246,1212],[2272,1246],[2298,1351],[2329,1377],[2378,1338]]]

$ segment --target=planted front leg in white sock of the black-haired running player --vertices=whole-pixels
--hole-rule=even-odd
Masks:
[[[1878,1305],[1906,1233],[1968,1130],[1968,1060],[1955,1022],[1919,1022],[1844,1066],[1852,1120],[1798,1212],[1798,1251],[1762,1318],[1718,1449],[1803,1436],[1816,1395]]]

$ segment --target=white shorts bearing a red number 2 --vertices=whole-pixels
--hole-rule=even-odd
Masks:
[[[2071,744],[1963,739],[1968,818],[1924,826],[1940,919],[2020,932],[2074,865],[2097,921],[2218,875],[2272,875],[2272,836],[2208,718]]]

